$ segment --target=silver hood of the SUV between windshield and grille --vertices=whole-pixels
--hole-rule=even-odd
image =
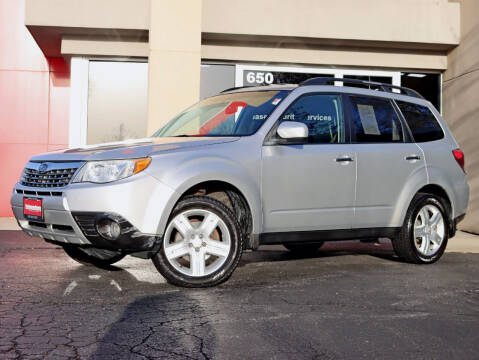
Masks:
[[[189,149],[232,142],[238,137],[163,137],[132,139],[81,148],[53,151],[34,156],[30,161],[85,161],[134,159],[155,155],[165,151]]]

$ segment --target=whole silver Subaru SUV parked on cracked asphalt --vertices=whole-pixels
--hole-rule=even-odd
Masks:
[[[27,234],[81,263],[151,258],[169,282],[202,287],[261,244],[313,254],[388,237],[399,258],[433,263],[468,199],[464,155],[428,101],[314,78],[227,90],[148,139],[35,156],[11,204]]]

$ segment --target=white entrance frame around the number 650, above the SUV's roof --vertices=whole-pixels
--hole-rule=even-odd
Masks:
[[[247,70],[252,71],[277,71],[277,72],[292,72],[292,73],[307,73],[318,75],[332,74],[335,78],[342,79],[345,75],[355,76],[384,76],[392,78],[392,85],[401,86],[401,72],[400,71],[382,71],[382,70],[360,70],[360,69],[331,69],[331,68],[317,68],[317,67],[295,67],[295,66],[263,66],[263,65],[236,65],[235,72],[235,86],[243,86],[243,72]],[[336,81],[335,85],[342,86],[342,82]]]

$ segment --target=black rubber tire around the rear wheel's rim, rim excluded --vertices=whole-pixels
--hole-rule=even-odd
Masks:
[[[416,220],[417,214],[425,205],[434,205],[435,207],[437,207],[439,211],[441,212],[442,218],[444,220],[444,239],[438,251],[435,254],[430,256],[425,256],[419,252],[419,250],[416,248],[416,245],[415,245],[416,239],[414,238],[414,222]],[[439,260],[441,256],[444,254],[444,251],[446,250],[447,242],[449,240],[449,217],[445,210],[445,206],[442,202],[442,199],[435,197],[433,195],[424,195],[420,197],[414,203],[413,206],[414,206],[413,210],[411,211],[410,216],[408,218],[408,222],[407,222],[407,234],[408,234],[411,249],[413,250],[414,255],[417,258],[418,262],[429,263],[429,264],[434,263],[437,260]]]

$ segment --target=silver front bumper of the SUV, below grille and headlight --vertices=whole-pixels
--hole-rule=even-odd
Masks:
[[[54,189],[17,184],[11,205],[18,224],[31,236],[59,244],[134,253],[158,247],[162,204],[166,204],[172,193],[155,178],[139,174],[110,184],[69,184]],[[24,217],[25,196],[43,200],[42,222]],[[107,240],[96,232],[96,219],[105,216],[123,224],[119,239]]]

